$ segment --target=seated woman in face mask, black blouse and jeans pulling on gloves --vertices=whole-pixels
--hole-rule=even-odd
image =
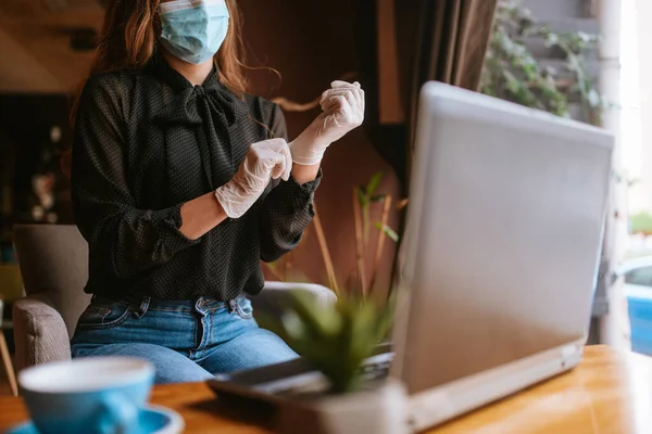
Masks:
[[[128,355],[156,382],[297,357],[244,294],[294,248],[319,163],[362,123],[336,81],[291,143],[275,104],[244,93],[235,0],[113,0],[75,113],[72,190],[93,294],[73,357]]]

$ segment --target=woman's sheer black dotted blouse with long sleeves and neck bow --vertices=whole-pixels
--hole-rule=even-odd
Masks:
[[[155,55],[143,68],[93,75],[79,99],[73,144],[75,220],[89,244],[85,291],[222,301],[263,286],[260,260],[299,243],[317,180],[272,181],[238,219],[199,240],[180,207],[235,175],[251,143],[287,139],[280,108],[236,98],[214,69],[192,86]]]

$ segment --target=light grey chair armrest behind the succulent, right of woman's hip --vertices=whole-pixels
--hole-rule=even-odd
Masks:
[[[251,297],[254,315],[259,312],[267,317],[280,317],[289,302],[291,291],[305,291],[324,304],[333,304],[337,301],[335,292],[318,284],[265,282],[265,286],[260,294]]]

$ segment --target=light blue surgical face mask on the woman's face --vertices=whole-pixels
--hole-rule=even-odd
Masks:
[[[210,60],[226,39],[225,0],[175,0],[161,3],[161,42],[176,58],[193,64]]]

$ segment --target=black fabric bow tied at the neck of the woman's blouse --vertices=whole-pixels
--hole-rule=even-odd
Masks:
[[[199,133],[191,137],[197,137],[208,186],[215,190],[234,176],[240,163],[234,159],[237,155],[234,155],[230,130],[248,113],[247,103],[221,84],[210,87],[188,86],[178,91],[173,101],[155,116],[155,122],[164,130],[179,126],[197,130],[203,125]],[[183,130],[188,131],[187,128]],[[191,142],[174,136],[177,138],[166,140],[168,167],[174,171],[170,179],[173,191],[185,182],[179,153],[187,152],[184,146]]]

